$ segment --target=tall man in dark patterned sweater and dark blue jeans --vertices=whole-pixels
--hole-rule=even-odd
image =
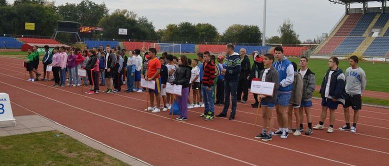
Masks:
[[[236,112],[236,90],[237,82],[240,73],[240,56],[239,53],[233,51],[233,44],[229,43],[226,45],[226,67],[221,70],[221,74],[224,75],[224,107],[223,110],[217,115],[217,117],[227,116],[227,110],[229,107],[229,95],[231,94],[232,106],[231,115],[229,120],[235,118]]]

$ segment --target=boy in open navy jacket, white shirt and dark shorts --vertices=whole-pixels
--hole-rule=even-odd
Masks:
[[[339,60],[337,57],[330,57],[328,60],[329,69],[325,73],[321,82],[321,115],[319,123],[313,129],[324,129],[324,120],[327,116],[327,108],[329,108],[329,127],[327,132],[333,132],[333,124],[335,123],[335,110],[339,103],[344,104],[345,96],[345,76],[343,71],[337,67]]]

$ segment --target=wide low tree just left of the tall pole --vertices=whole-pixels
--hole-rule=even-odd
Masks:
[[[257,25],[233,24],[221,36],[222,42],[260,43],[262,33]]]

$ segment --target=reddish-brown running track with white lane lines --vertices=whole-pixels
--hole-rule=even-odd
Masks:
[[[34,111],[153,165],[383,165],[388,161],[387,109],[363,106],[356,133],[314,130],[311,136],[274,136],[262,142],[253,138],[261,126],[254,126],[256,109],[249,104],[238,103],[235,120],[205,121],[197,117],[203,109],[195,108],[189,110],[187,121],[179,122],[170,120],[167,112],[143,111],[145,93],[86,95],[82,87],[32,83],[24,78],[23,59],[0,60],[0,91],[10,95],[15,116]],[[315,125],[320,101],[313,102]],[[221,109],[215,106],[215,113]],[[344,124],[341,109],[336,118],[334,128]]]

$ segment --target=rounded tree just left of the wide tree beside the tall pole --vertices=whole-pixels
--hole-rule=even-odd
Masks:
[[[219,38],[217,28],[210,23],[197,23],[196,24],[196,41],[208,41],[215,42]]]

